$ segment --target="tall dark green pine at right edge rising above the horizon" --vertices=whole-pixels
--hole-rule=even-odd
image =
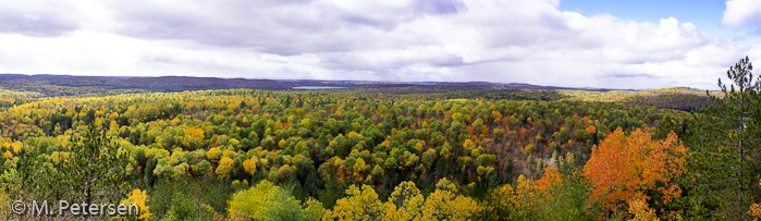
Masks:
[[[722,219],[749,219],[745,208],[761,189],[761,78],[753,79],[748,57],[727,71],[732,84],[719,79],[721,96],[709,95],[696,120],[690,169],[696,188],[694,210],[719,207]]]

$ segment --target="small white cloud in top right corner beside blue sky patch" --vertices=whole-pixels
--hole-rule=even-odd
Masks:
[[[731,27],[753,25],[761,28],[761,1],[728,0],[722,24]]]

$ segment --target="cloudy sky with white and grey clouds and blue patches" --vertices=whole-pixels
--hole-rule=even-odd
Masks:
[[[761,0],[0,2],[0,73],[717,89],[746,56]]]

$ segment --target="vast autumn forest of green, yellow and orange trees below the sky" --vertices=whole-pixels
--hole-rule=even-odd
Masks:
[[[66,199],[140,206],[94,218],[120,220],[751,220],[751,71],[710,93],[4,82],[0,217]]]

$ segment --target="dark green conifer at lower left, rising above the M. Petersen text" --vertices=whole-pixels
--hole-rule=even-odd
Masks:
[[[127,154],[94,124],[84,137],[72,137],[71,155],[56,173],[62,199],[88,205],[119,201],[130,189],[125,182]],[[97,167],[94,167],[97,165]]]

